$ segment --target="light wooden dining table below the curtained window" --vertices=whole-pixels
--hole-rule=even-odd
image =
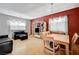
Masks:
[[[66,55],[69,55],[69,35],[49,34],[46,37],[53,37],[58,44],[65,45]]]

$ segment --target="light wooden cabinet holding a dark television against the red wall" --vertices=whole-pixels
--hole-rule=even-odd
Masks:
[[[41,33],[46,31],[45,21],[34,21],[32,24],[32,35],[35,37],[40,37]]]

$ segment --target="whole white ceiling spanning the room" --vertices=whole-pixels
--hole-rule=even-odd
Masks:
[[[78,3],[0,3],[0,13],[24,19],[34,19],[79,7]]]

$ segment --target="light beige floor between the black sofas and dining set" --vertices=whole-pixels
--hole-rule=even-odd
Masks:
[[[29,37],[28,40],[14,40],[12,55],[43,55],[43,40]]]

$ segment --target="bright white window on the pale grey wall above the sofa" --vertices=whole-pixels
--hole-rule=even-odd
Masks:
[[[26,29],[26,22],[25,21],[16,21],[16,20],[9,20],[8,21],[10,30],[25,30]]]

